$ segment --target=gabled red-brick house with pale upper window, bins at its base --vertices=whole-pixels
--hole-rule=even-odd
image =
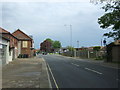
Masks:
[[[18,55],[19,57],[32,57],[33,56],[33,49],[34,49],[34,42],[31,36],[28,36],[20,29],[16,30],[12,33],[18,39]]]

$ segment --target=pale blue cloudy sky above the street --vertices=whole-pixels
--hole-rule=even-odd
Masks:
[[[107,30],[100,28],[98,18],[104,15],[102,4],[89,0],[81,2],[2,2],[0,3],[0,27],[14,32],[18,28],[34,38],[35,48],[46,38],[58,40],[63,47],[100,46]],[[66,25],[66,27],[65,27]]]

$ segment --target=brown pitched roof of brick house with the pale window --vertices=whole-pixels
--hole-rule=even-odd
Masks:
[[[15,36],[15,37],[17,37],[19,40],[32,40],[32,38],[30,36],[28,36],[27,34],[25,34],[20,29],[17,29],[16,31],[14,31],[12,33],[12,35]]]

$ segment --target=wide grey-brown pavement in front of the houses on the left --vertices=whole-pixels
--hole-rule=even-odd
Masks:
[[[2,88],[51,88],[42,58],[16,59],[2,67]]]

